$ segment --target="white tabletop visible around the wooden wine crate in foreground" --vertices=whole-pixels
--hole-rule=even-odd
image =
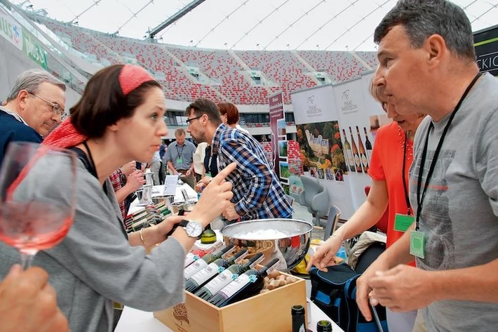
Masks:
[[[289,308],[289,319],[290,308]],[[308,328],[311,331],[316,331],[316,323],[322,319],[330,318],[324,314],[314,303],[311,303],[311,322],[308,324]],[[172,332],[168,326],[165,326],[161,321],[154,318],[152,312],[144,312],[141,310],[132,309],[130,307],[125,307],[123,314],[121,314],[121,319],[119,319],[118,326],[114,332]],[[332,321],[332,331],[334,332],[344,332],[337,324]],[[199,331],[201,332],[201,331]],[[276,331],[271,331],[276,332]],[[290,331],[278,331],[278,332],[290,332]]]

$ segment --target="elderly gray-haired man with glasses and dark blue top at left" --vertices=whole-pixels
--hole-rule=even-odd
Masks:
[[[61,121],[65,84],[41,69],[30,69],[15,79],[0,106],[0,166],[9,142],[41,142]]]

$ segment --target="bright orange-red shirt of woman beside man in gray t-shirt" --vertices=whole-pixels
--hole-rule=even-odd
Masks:
[[[389,196],[389,219],[387,224],[387,243],[397,241],[403,232],[394,230],[396,213],[407,214],[405,191],[403,190],[403,153],[405,133],[396,122],[386,124],[377,130],[368,175],[373,180],[385,180]],[[413,142],[408,141],[405,156],[405,183],[408,190],[408,170],[413,161]],[[413,215],[413,212],[411,213]]]

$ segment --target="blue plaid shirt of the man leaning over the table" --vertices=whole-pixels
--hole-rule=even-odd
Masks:
[[[235,211],[242,220],[291,218],[288,204],[267,153],[253,136],[220,124],[211,153],[218,155],[218,167],[237,163],[227,180],[233,185]]]

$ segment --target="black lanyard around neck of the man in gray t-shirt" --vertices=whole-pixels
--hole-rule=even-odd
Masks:
[[[443,141],[445,140],[446,134],[448,129],[450,128],[450,125],[455,118],[455,114],[457,114],[458,109],[462,105],[462,102],[464,102],[464,99],[466,96],[469,94],[469,91],[471,91],[471,88],[474,84],[476,84],[476,81],[480,77],[480,73],[476,75],[476,77],[473,78],[469,86],[467,86],[464,94],[462,95],[462,98],[460,98],[457,106],[453,110],[452,114],[450,115],[450,119],[448,119],[447,124],[443,130],[443,135],[439,138],[438,146],[436,147],[436,151],[434,151],[434,156],[431,161],[431,166],[429,166],[429,172],[427,173],[426,181],[424,183],[424,189],[422,190],[422,195],[420,194],[420,187],[422,187],[422,174],[424,173],[424,165],[425,165],[425,159],[427,157],[427,148],[429,147],[429,134],[431,133],[431,129],[433,128],[433,124],[429,125],[429,128],[427,129],[427,135],[425,139],[425,144],[424,144],[424,150],[422,150],[422,157],[420,157],[420,166],[419,166],[419,178],[417,179],[417,218],[415,219],[415,230],[419,230],[419,220],[420,220],[420,213],[422,212],[422,203],[424,202],[425,194],[427,191],[427,187],[429,187],[429,181],[431,180],[432,173],[434,173],[434,168],[436,168],[436,162],[439,157],[439,152],[441,151],[441,147],[443,147]]]

